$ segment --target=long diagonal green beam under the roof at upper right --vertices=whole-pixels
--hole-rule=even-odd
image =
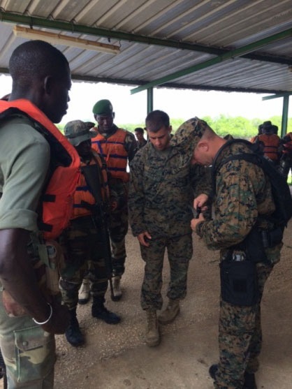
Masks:
[[[140,91],[144,91],[145,89],[148,89],[150,87],[156,87],[157,85],[162,85],[165,82],[176,80],[177,78],[184,77],[184,75],[189,75],[191,73],[195,73],[196,71],[200,71],[202,69],[209,68],[210,66],[219,64],[220,62],[227,61],[228,59],[231,59],[233,57],[242,57],[242,55],[246,54],[247,52],[257,50],[260,47],[263,47],[263,46],[268,45],[270,43],[274,43],[276,41],[280,41],[284,38],[289,38],[290,36],[292,36],[292,29],[282,31],[279,34],[269,36],[268,38],[260,39],[259,41],[256,41],[254,43],[250,43],[249,45],[245,45],[245,46],[242,46],[238,49],[231,50],[230,52],[227,52],[226,54],[219,55],[218,57],[208,59],[207,61],[201,62],[200,64],[196,64],[194,66],[190,66],[189,68],[185,68],[182,71],[177,71],[177,72],[172,73],[170,75],[166,75],[162,78],[159,78],[158,80],[148,82],[147,84],[145,84],[143,86],[132,89],[131,94],[135,94],[135,93],[138,93]]]

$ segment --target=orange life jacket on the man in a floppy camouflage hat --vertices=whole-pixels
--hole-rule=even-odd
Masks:
[[[92,154],[94,158],[90,161],[89,165],[98,165],[100,171],[100,180],[102,183],[101,187],[101,198],[103,201],[108,202],[110,198],[110,191],[108,189],[108,175],[106,173],[106,164],[101,160],[101,157],[92,149]],[[87,166],[88,164],[81,161],[81,166]],[[76,187],[76,191],[74,193],[74,203],[73,203],[73,212],[71,214],[71,219],[75,219],[80,216],[91,215],[92,212],[87,208],[82,206],[82,200],[86,201],[90,205],[94,205],[96,200],[91,193],[91,189],[89,188],[85,176],[81,173],[78,179],[78,184]]]

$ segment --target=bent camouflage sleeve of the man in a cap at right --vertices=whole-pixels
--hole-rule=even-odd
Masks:
[[[217,175],[215,218],[198,223],[196,233],[203,238],[209,249],[223,249],[241,242],[254,226],[258,216],[253,168],[240,169],[226,163]]]

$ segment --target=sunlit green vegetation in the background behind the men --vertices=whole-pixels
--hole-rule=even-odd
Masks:
[[[245,117],[237,116],[231,117],[226,115],[219,115],[218,117],[205,116],[200,119],[205,120],[214,131],[219,135],[225,136],[227,134],[233,135],[235,138],[251,138],[252,136],[258,133],[259,124],[270,120],[272,124],[275,124],[279,127],[278,135],[281,136],[281,121],[280,116],[265,117],[265,118],[255,118],[255,119],[246,119]],[[170,119],[171,125],[173,126],[173,131],[175,132],[179,126],[185,122],[186,119]],[[133,132],[136,127],[145,127],[144,123],[118,123],[122,129]],[[58,128],[63,131],[64,124],[58,124]],[[292,131],[292,117],[288,119],[288,130],[287,132]]]

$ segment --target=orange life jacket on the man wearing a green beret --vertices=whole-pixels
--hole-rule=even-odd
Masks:
[[[128,182],[129,173],[126,172],[128,153],[124,147],[125,138],[126,131],[123,129],[117,129],[109,138],[98,133],[95,138],[92,138],[92,147],[103,156],[113,178]]]

